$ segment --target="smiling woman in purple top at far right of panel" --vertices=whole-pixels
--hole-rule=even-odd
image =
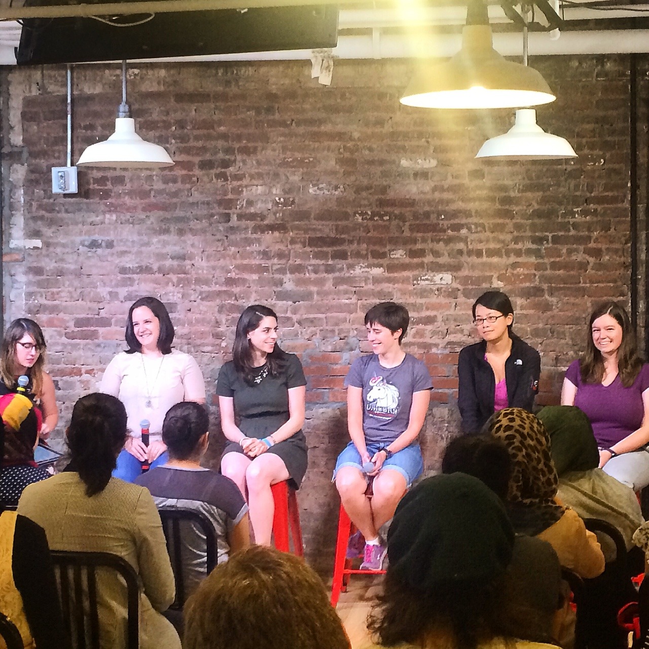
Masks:
[[[639,358],[631,321],[617,302],[591,314],[586,353],[566,372],[561,405],[588,415],[600,469],[635,491],[649,484],[649,365]]]

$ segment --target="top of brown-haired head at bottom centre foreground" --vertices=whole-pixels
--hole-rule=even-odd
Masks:
[[[185,649],[349,649],[324,584],[299,557],[252,546],[201,582],[184,607]]]

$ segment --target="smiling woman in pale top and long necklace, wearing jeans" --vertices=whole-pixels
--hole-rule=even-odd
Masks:
[[[129,309],[126,342],[106,367],[99,391],[119,398],[129,417],[129,437],[117,458],[113,476],[132,482],[143,463],[151,468],[164,464],[167,447],[162,441],[162,422],[171,406],[181,401],[205,403],[205,382],[197,362],[189,354],[171,349],[175,335],[164,304],[141,297]],[[149,446],[141,439],[140,422],[149,421]]]

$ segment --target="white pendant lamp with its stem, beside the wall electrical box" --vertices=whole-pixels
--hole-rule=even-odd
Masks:
[[[122,103],[117,108],[115,132],[108,140],[91,144],[81,154],[77,166],[156,169],[173,164],[163,147],[142,140],[135,132],[135,120],[126,103],[126,61],[122,61]]]

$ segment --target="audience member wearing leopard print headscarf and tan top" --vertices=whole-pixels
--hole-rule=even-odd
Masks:
[[[541,421],[522,408],[505,408],[485,429],[505,443],[511,457],[508,512],[516,532],[548,541],[561,565],[580,577],[601,574],[604,554],[597,537],[574,509],[557,503],[559,479]]]

